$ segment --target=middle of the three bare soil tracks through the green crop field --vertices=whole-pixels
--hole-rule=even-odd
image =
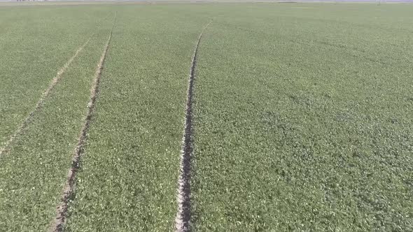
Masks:
[[[113,24],[112,24],[111,32],[109,33],[109,38],[106,41],[104,51],[102,52],[102,56],[100,57],[99,64],[97,64],[96,72],[94,73],[93,84],[92,84],[92,87],[90,88],[90,99],[89,99],[89,103],[87,103],[87,115],[84,118],[83,127],[78,136],[78,144],[76,145],[76,148],[74,150],[73,159],[71,162],[71,168],[69,169],[66,184],[64,185],[62,199],[56,208],[56,218],[53,221],[52,226],[50,227],[50,231],[62,231],[64,224],[66,222],[68,203],[69,203],[69,199],[71,198],[73,194],[76,172],[78,171],[78,168],[79,168],[80,156],[83,154],[83,148],[85,146],[85,140],[87,137],[86,133],[90,127],[92,113],[94,110],[94,103],[96,101],[97,94],[99,92],[99,82],[102,76],[102,69],[104,66],[104,61],[106,59],[106,54],[109,50],[109,44],[111,43],[113,27],[115,27],[117,15],[118,13],[116,13],[115,18],[113,19]]]

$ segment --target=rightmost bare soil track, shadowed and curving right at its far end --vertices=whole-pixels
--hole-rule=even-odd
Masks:
[[[190,231],[190,158],[193,154],[193,87],[195,68],[197,66],[198,47],[200,46],[202,34],[204,34],[204,31],[211,22],[204,27],[198,37],[189,72],[185,124],[183,125],[181,166],[178,180],[178,212],[176,213],[175,218],[175,230],[177,232]]]

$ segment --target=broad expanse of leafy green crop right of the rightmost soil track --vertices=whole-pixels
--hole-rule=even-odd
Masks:
[[[412,230],[412,6],[225,10],[197,68],[195,231]]]

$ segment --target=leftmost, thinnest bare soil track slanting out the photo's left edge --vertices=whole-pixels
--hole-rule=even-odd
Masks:
[[[93,35],[92,35],[93,36]],[[19,128],[15,131],[15,133],[13,133],[12,136],[10,136],[10,138],[6,141],[6,143],[3,145],[3,147],[0,148],[0,157],[3,154],[3,152],[6,152],[6,150],[8,150],[8,146],[13,143],[13,140],[15,140],[15,138],[22,133],[22,131],[27,127],[27,125],[29,124],[29,122],[31,121],[31,119],[33,118],[34,114],[41,109],[41,107],[43,106],[43,103],[45,101],[45,99],[50,95],[50,92],[52,92],[52,89],[57,85],[57,82],[59,82],[60,79],[62,79],[62,75],[63,73],[66,71],[67,68],[69,68],[71,62],[79,55],[79,53],[83,50],[83,48],[85,48],[85,46],[87,45],[87,43],[89,43],[90,39],[92,38],[92,36],[90,36],[87,41],[85,43],[83,43],[83,45],[81,45],[78,50],[76,50],[75,54],[66,62],[66,64],[64,64],[64,66],[62,68],[60,68],[60,70],[57,72],[55,78],[52,79],[52,81],[50,82],[49,87],[45,90],[45,92],[43,92],[43,94],[41,94],[40,99],[38,99],[36,106],[34,107],[34,110],[32,110],[29,115],[26,117],[25,121],[22,122],[22,124],[19,126]]]

